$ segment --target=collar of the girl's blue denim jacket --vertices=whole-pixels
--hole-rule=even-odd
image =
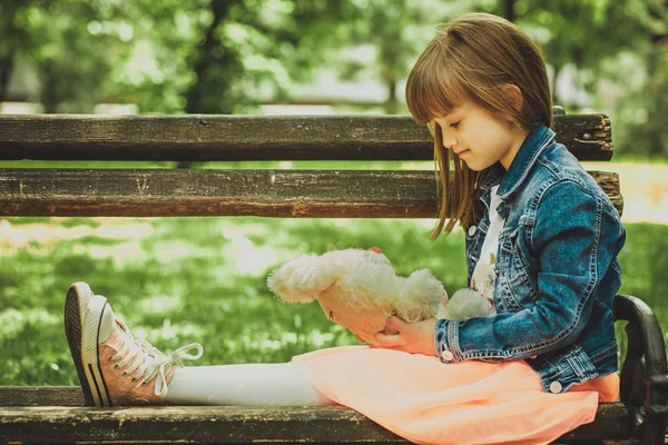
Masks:
[[[499,196],[503,200],[508,198],[522,185],[527,179],[531,167],[536,164],[541,152],[554,140],[554,131],[549,129],[544,123],[539,123],[529,135],[520,150],[512,160],[510,168],[499,186]]]

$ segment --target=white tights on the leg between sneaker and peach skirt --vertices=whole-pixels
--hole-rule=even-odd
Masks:
[[[289,363],[177,367],[169,382],[167,402],[246,406],[332,404]]]

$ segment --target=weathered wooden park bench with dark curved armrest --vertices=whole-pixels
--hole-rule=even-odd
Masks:
[[[557,116],[558,140],[580,160],[609,160],[602,115]],[[0,159],[433,160],[409,117],[0,116]],[[591,171],[621,212],[619,179]],[[0,169],[2,216],[265,216],[433,218],[433,171]],[[428,234],[425,234],[428,236]],[[618,296],[628,320],[621,403],[559,443],[665,441],[666,348],[651,309]],[[65,347],[65,343],[63,343]],[[0,387],[0,441],[405,443],[342,407],[82,406],[78,387]]]

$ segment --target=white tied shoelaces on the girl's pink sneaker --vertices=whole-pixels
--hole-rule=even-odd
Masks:
[[[118,328],[121,328],[120,326]],[[204,354],[204,348],[198,343],[191,343],[183,346],[169,355],[165,355],[158,348],[145,339],[135,339],[132,334],[121,328],[124,335],[120,336],[120,349],[118,354],[109,357],[110,360],[118,360],[116,368],[122,368],[128,363],[130,367],[124,369],[122,375],[128,376],[136,372],[132,382],[143,378],[141,385],[148,385],[156,378],[155,394],[158,397],[167,396],[167,375],[176,363],[184,366],[181,359],[196,360]],[[197,355],[187,354],[190,349],[197,349]]]

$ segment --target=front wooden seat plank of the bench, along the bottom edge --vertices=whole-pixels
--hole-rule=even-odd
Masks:
[[[570,443],[629,437],[622,404],[601,404],[596,421],[566,434]],[[342,406],[0,407],[0,441],[24,443],[407,443]]]

